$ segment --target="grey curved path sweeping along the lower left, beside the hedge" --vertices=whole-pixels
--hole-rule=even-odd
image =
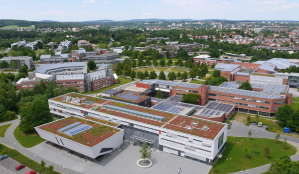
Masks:
[[[19,117],[19,115],[17,115]],[[4,138],[0,138],[0,143],[4,144],[5,146],[8,146],[12,149],[16,149],[18,152],[20,152],[21,154],[25,155],[26,157],[30,158],[31,160],[35,161],[35,155],[36,156],[36,162],[40,164],[41,160],[43,160],[44,162],[46,162],[46,167],[53,165],[54,170],[57,172],[60,172],[62,174],[83,174],[77,171],[73,171],[70,170],[68,168],[63,168],[63,166],[53,163],[51,161],[48,161],[44,158],[41,158],[38,156],[38,154],[34,154],[31,151],[29,151],[28,149],[24,148],[21,144],[19,144],[19,142],[14,138],[13,136],[13,131],[14,129],[19,125],[19,119],[16,120],[12,120],[12,121],[7,121],[4,123],[1,123],[0,126],[6,125],[6,124],[10,124],[12,123],[11,126],[9,126],[9,128],[6,130],[5,133],[5,137]],[[15,143],[15,145],[14,145]],[[53,159],[53,161],[55,161],[55,159]],[[65,170],[65,173],[64,173]]]

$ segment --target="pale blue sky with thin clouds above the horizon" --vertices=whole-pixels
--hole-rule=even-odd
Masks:
[[[0,0],[0,19],[299,20],[299,0]]]

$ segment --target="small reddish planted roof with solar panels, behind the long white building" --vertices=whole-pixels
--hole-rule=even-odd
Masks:
[[[131,101],[135,103],[139,103],[143,100],[150,98],[149,96],[140,95],[142,92],[133,92],[133,91],[124,91],[119,94],[112,96],[111,98],[116,98],[124,101]]]

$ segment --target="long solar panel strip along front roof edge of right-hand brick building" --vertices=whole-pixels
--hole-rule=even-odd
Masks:
[[[268,99],[280,99],[284,98],[283,96],[277,95],[277,94],[269,94],[265,92],[259,92],[259,91],[250,91],[250,90],[243,90],[243,89],[230,89],[225,87],[210,87],[211,90],[218,90],[223,93],[230,93],[230,94],[236,94],[236,95],[244,95],[244,96],[252,96],[252,97],[258,97],[258,98],[268,98]]]

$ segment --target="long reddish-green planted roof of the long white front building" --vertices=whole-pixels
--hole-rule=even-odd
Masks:
[[[104,98],[98,98],[98,97],[83,95],[83,94],[79,94],[79,93],[69,93],[69,94],[66,94],[66,96],[71,96],[71,97],[75,97],[75,98],[78,97],[78,98],[81,98],[82,101],[91,100],[91,101],[94,101],[94,103],[91,103],[91,104],[84,103],[84,104],[77,105],[74,103],[67,102],[67,100],[62,101],[63,96],[52,98],[50,100],[55,100],[55,101],[71,104],[71,105],[74,105],[77,107],[84,107],[87,109],[91,109],[94,106],[99,106],[100,109],[98,109],[96,111],[100,112],[100,113],[102,112],[102,113],[130,119],[130,120],[134,120],[134,121],[139,121],[139,122],[143,122],[143,123],[158,126],[158,127],[164,127],[167,129],[172,129],[172,130],[180,131],[183,133],[188,133],[188,134],[191,134],[194,136],[199,136],[199,137],[203,137],[203,138],[207,138],[207,139],[214,139],[214,137],[217,136],[219,131],[225,126],[225,124],[223,124],[223,123],[216,123],[213,121],[208,121],[208,120],[203,120],[203,119],[188,117],[188,116],[180,116],[180,115],[173,114],[173,113],[158,111],[156,109],[146,108],[146,107],[142,107],[142,106],[136,106],[136,105],[132,105],[132,104],[126,104],[123,102],[116,102],[116,101],[112,101],[112,100],[108,100],[108,99],[104,99]],[[178,103],[178,105],[180,105],[180,104],[185,104],[185,103]],[[107,105],[108,107],[105,107],[105,105]],[[113,108],[113,107],[109,107],[109,105],[117,106],[117,107]],[[186,105],[188,105],[188,104],[186,104]],[[184,107],[184,106],[180,106],[180,107]],[[198,107],[202,108],[202,106],[198,106]],[[127,110],[125,110],[125,109],[122,110],[121,108],[128,109],[129,111],[132,110],[133,111],[132,113],[135,113],[134,111],[138,111],[138,113],[132,114],[132,113],[129,113],[129,111],[127,112]],[[140,112],[164,117],[164,119],[160,121],[160,120],[148,118],[147,116],[140,116],[139,115]],[[213,129],[204,131],[204,130],[201,130],[201,127],[196,127],[193,130],[186,131],[185,130],[186,126],[181,127],[181,126],[176,125],[178,122],[182,122],[182,120],[185,120],[188,124],[190,124],[191,121],[199,122],[200,125],[208,125],[210,128],[214,127],[216,129],[213,128]]]

